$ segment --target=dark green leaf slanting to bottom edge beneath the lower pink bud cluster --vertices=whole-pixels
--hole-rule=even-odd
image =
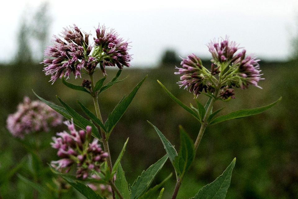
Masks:
[[[84,185],[80,182],[74,182],[72,179],[67,178],[65,176],[61,176],[66,182],[68,182],[72,187],[78,190],[83,196],[88,199],[102,199],[100,195],[95,193],[90,187]]]

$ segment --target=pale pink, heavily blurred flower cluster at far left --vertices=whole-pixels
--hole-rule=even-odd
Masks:
[[[41,101],[32,101],[29,97],[18,105],[14,114],[8,115],[7,129],[15,137],[24,138],[25,134],[49,131],[50,126],[62,123],[62,116]]]

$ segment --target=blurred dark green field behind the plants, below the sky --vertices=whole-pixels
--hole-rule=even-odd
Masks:
[[[217,101],[213,110],[225,107],[221,114],[242,108],[256,108],[276,101],[282,96],[282,101],[273,108],[249,118],[230,120],[207,128],[196,153],[195,162],[185,176],[177,198],[193,197],[207,183],[214,181],[237,158],[233,171],[231,186],[227,199],[296,199],[298,198],[298,63],[297,61],[283,63],[262,63],[265,80],[260,81],[259,89],[250,86],[249,89],[235,90],[236,99],[229,102]],[[6,130],[6,118],[16,111],[16,106],[24,96],[37,99],[32,89],[44,99],[59,104],[58,95],[67,104],[80,110],[76,99],[87,108],[94,110],[92,98],[84,92],[74,91],[65,87],[61,81],[53,85],[49,76],[44,76],[41,64],[0,65],[0,179],[12,169],[23,157],[26,158],[18,173],[32,179],[27,152],[16,139]],[[109,81],[117,70],[107,70]],[[174,103],[156,80],[161,81],[173,95],[184,104],[195,104],[193,95],[187,90],[179,89],[176,82],[178,75],[169,66],[159,68],[124,68],[121,77],[127,79],[112,86],[99,97],[102,117],[106,120],[118,101],[133,89],[133,87],[148,74],[147,80],[139,89],[132,104],[120,122],[115,126],[109,141],[112,162],[116,158],[127,137],[129,143],[122,159],[122,167],[128,182],[147,169],[151,164],[165,155],[164,147],[155,130],[147,120],[175,145],[179,147],[178,125],[181,124],[190,137],[195,140],[200,125],[196,119]],[[97,79],[102,77],[99,72]],[[82,75],[82,78],[87,76]],[[82,79],[70,82],[81,84]],[[201,103],[207,97],[197,98]],[[85,116],[85,115],[84,115]],[[44,135],[43,140],[51,141],[55,132],[66,129],[60,125],[52,132]],[[56,151],[50,148],[43,150],[41,157],[44,167],[51,160],[57,160]],[[135,170],[136,172],[133,172]],[[174,173],[168,161],[158,174],[153,184],[160,183],[171,172]],[[41,184],[47,187],[55,175],[49,169],[43,173]],[[163,198],[171,197],[175,186],[175,176],[164,185]],[[0,186],[2,198],[32,198],[33,189],[26,185],[16,175]],[[70,190],[62,198],[80,198],[79,193]],[[42,198],[42,197],[40,197]],[[157,198],[157,197],[154,197]]]

